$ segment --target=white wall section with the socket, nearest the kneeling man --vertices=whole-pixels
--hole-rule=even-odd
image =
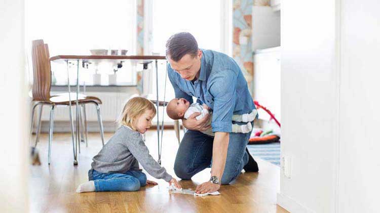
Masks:
[[[338,81],[335,3],[281,4],[281,172],[278,203],[292,212],[332,212],[335,187]]]

